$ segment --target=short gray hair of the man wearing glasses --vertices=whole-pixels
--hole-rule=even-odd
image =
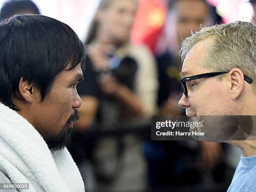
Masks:
[[[203,66],[213,71],[238,68],[252,78],[256,90],[256,25],[237,21],[192,32],[182,42],[182,61],[197,42],[207,39],[210,44]]]

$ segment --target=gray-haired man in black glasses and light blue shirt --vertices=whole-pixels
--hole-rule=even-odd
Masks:
[[[202,28],[184,40],[181,55],[184,94],[179,106],[186,108],[189,118],[256,115],[255,25],[238,21]],[[242,152],[228,192],[255,191],[256,141],[223,142]]]

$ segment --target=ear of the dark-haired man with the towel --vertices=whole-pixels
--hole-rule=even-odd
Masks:
[[[34,87],[28,81],[25,81],[23,77],[20,78],[19,82],[19,91],[20,95],[26,100],[27,102],[32,102],[33,101],[33,96],[34,96]]]

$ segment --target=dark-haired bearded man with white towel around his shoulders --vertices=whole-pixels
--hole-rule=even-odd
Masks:
[[[66,146],[82,104],[84,46],[43,15],[0,22],[0,183],[31,191],[84,191]]]

